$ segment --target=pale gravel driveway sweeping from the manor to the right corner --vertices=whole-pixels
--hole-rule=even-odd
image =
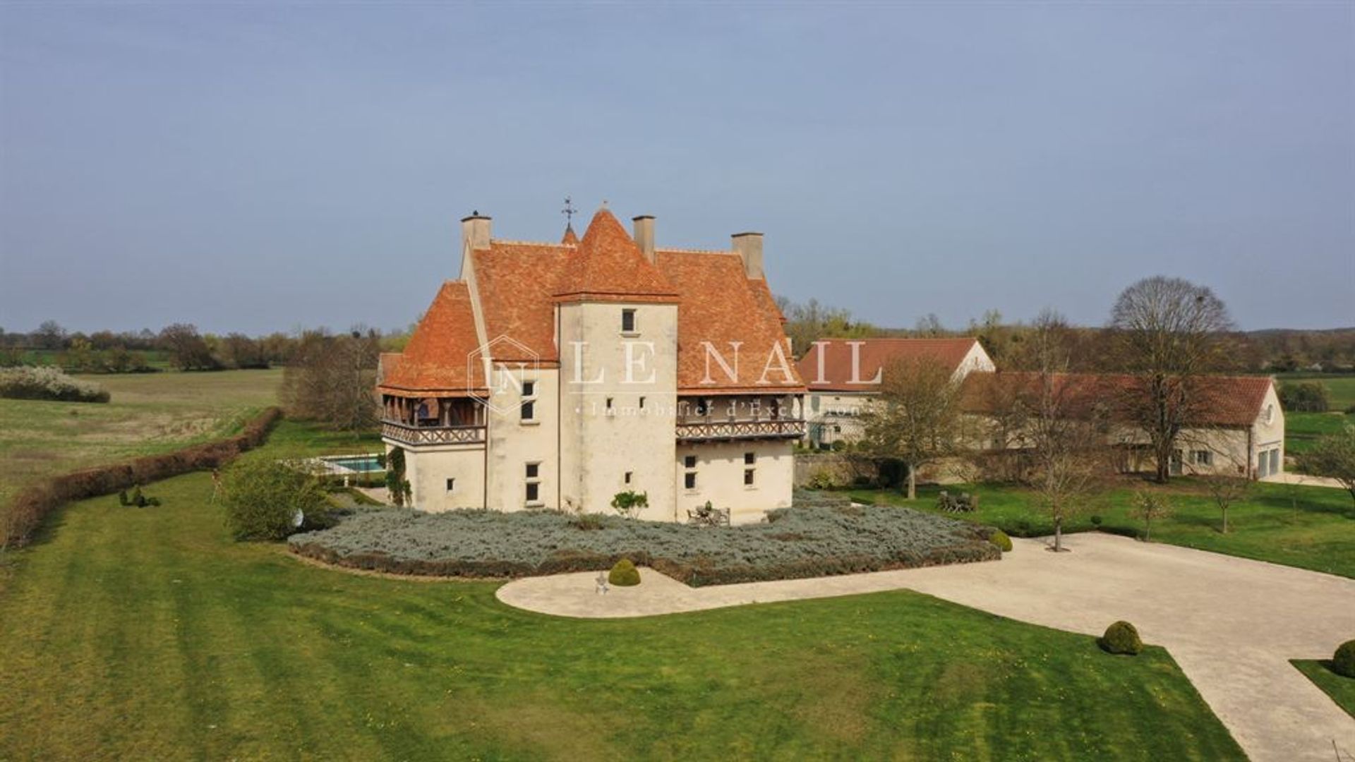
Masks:
[[[511,582],[499,599],[564,617],[680,611],[916,590],[1014,620],[1100,635],[1115,620],[1167,647],[1257,762],[1355,755],[1355,719],[1289,663],[1329,659],[1355,637],[1355,580],[1110,534],[1014,540],[1001,561],[692,588],[653,569],[638,587],[595,593],[596,574]]]

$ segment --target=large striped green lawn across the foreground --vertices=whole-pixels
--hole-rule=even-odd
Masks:
[[[332,446],[285,422],[245,457]],[[0,758],[1243,759],[1160,648],[909,591],[546,617],[232,542],[210,492],[76,503],[11,552]]]

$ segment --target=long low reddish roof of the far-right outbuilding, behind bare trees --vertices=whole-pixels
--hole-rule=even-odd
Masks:
[[[1056,389],[1079,414],[1095,405],[1115,403],[1144,384],[1138,376],[1121,373],[1061,373]],[[1027,372],[970,373],[965,377],[961,405],[966,412],[992,414],[996,404],[1015,395],[1035,393],[1039,374]],[[1202,418],[1201,426],[1251,426],[1263,412],[1266,395],[1274,381],[1267,376],[1199,376],[1192,380]]]

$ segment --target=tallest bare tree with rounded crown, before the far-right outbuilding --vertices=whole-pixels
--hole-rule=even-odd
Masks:
[[[1176,437],[1202,418],[1196,380],[1225,365],[1232,327],[1211,290],[1180,278],[1146,278],[1115,301],[1114,346],[1134,376],[1119,412],[1148,437],[1157,481],[1171,476]]]

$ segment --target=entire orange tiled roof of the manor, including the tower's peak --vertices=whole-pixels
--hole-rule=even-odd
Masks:
[[[749,279],[737,254],[659,249],[656,264],[650,264],[607,210],[593,217],[577,245],[570,245],[569,239],[568,229],[566,243],[560,244],[495,239],[486,248],[470,252],[486,340],[507,336],[516,342],[496,344],[496,361],[537,359],[545,366],[558,365],[556,304],[560,301],[676,302],[679,389],[717,395],[804,390],[782,329],[785,319],[767,282]],[[450,340],[432,339],[444,334]],[[729,342],[741,342],[734,381],[713,361],[714,384],[702,384],[703,340],[721,350],[730,363]],[[778,343],[785,347],[791,377],[774,365],[767,373],[768,382],[757,384]],[[526,350],[519,351],[518,344]],[[467,384],[465,357],[476,347],[466,283],[449,282],[404,355],[383,355],[381,389],[402,393],[432,390],[434,384],[439,384],[438,390],[451,388],[442,384]],[[439,370],[439,363],[447,367]],[[473,382],[484,385],[480,377]]]

